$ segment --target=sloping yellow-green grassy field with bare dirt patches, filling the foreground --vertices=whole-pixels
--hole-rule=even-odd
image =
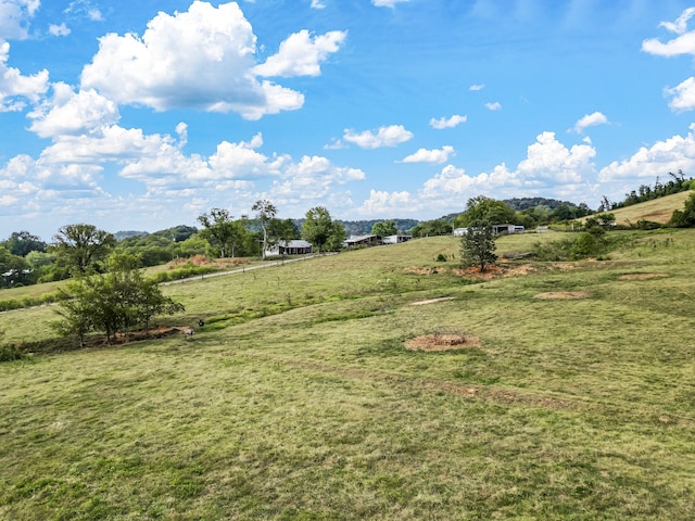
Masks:
[[[0,519],[695,519],[695,230],[611,233],[484,280],[432,238],[174,284],[191,341],[1,364]],[[404,347],[442,328],[479,343]]]

